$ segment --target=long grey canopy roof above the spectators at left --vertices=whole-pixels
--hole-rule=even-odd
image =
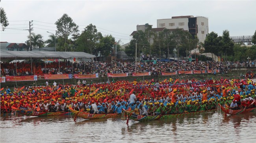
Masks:
[[[86,52],[1,51],[1,58],[94,58]]]

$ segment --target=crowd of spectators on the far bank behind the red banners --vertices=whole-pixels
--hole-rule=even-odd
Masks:
[[[17,64],[17,65],[15,65]],[[219,70],[227,73],[231,63],[224,62],[51,62],[37,61],[31,63],[1,63],[1,76],[26,76],[43,74],[106,74],[151,72],[159,75],[161,72],[193,71],[193,70]],[[16,73],[17,66],[17,73]],[[136,68],[135,68],[136,67]],[[32,71],[32,72],[31,72]]]

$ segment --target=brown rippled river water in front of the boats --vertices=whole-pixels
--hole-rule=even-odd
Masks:
[[[0,143],[256,143],[256,112],[192,116],[137,122],[69,116],[1,117]]]

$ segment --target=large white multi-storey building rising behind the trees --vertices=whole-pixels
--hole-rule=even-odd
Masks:
[[[208,18],[203,16],[173,16],[169,19],[158,19],[157,28],[176,29],[182,28],[189,31],[192,36],[197,36],[199,42],[204,42],[209,33]]]

